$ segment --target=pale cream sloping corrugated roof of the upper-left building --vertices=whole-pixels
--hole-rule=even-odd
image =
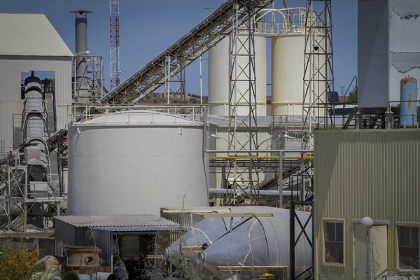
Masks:
[[[73,55],[43,14],[0,13],[0,38],[0,55]]]

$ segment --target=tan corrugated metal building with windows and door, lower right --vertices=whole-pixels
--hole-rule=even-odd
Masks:
[[[375,255],[375,262],[398,268],[398,225],[420,226],[420,130],[318,131],[314,180],[316,274],[353,279],[366,253],[355,247],[365,216],[387,226],[387,240],[377,240],[388,244],[387,256]],[[327,221],[344,224],[343,264],[324,262]]]

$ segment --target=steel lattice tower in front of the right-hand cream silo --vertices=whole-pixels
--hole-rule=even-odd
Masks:
[[[327,92],[334,90],[331,3],[307,0],[306,4],[302,120],[311,137],[314,130],[329,127]]]

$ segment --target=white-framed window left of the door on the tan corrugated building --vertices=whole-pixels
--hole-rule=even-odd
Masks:
[[[344,263],[343,223],[325,222],[324,224],[324,262]]]

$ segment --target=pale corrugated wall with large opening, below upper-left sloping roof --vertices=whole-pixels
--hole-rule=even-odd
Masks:
[[[13,114],[22,114],[21,76],[29,71],[55,71],[57,126],[65,126],[65,106],[71,105],[71,57],[0,56],[0,141],[5,152],[13,149]]]

